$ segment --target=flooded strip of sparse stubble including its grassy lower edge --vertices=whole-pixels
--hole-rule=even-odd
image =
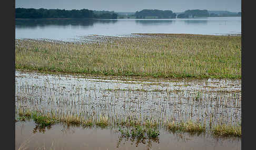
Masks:
[[[32,77],[41,80],[38,76]],[[70,78],[47,77],[45,82],[39,84],[27,83],[30,78],[28,76],[16,81],[15,112],[19,116],[16,116],[16,120],[34,120],[41,127],[50,127],[55,123],[108,129],[141,126],[150,128],[149,134],[155,133],[154,128],[201,134],[213,133],[213,127],[220,122],[226,125],[232,123],[231,126],[241,122],[241,90],[238,81],[225,80],[222,86],[232,84],[231,90],[220,87],[209,89],[212,92],[208,93],[208,89],[204,88],[205,80],[199,83],[188,82],[200,84],[203,88],[199,86],[199,89],[197,86],[190,89],[177,86],[172,89],[170,86],[168,89],[169,84],[165,82],[159,82],[161,84],[156,84],[159,85],[156,88],[144,87],[142,83],[138,83],[141,87],[136,84],[134,87],[123,87],[119,81],[95,86],[98,82],[87,83],[76,79],[75,82],[67,82],[66,88],[63,88],[61,81],[69,81]],[[212,81],[218,85],[223,83]],[[187,82],[183,82],[172,84],[187,85]],[[56,86],[53,87],[52,84]],[[218,92],[219,90],[234,92]],[[222,131],[216,131],[221,130],[215,130],[216,135],[225,136]],[[130,131],[129,133],[131,134]]]

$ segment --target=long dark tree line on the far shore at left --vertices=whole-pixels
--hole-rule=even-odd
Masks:
[[[108,11],[15,8],[15,18],[106,18],[116,19],[117,14]]]

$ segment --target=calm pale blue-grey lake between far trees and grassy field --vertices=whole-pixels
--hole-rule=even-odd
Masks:
[[[16,38],[79,40],[87,35],[127,36],[133,33],[241,34],[241,17],[193,19],[29,19],[15,20]]]

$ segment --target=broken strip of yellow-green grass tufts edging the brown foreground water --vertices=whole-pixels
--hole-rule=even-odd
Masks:
[[[40,111],[28,111],[28,110],[19,110],[19,117],[17,121],[26,121],[31,120],[36,123],[36,128],[39,128],[40,131],[45,131],[45,127],[51,128],[52,125],[56,123],[65,123],[70,126],[99,126],[99,127],[107,127],[107,126],[119,126],[119,131],[122,137],[125,138],[137,138],[137,139],[146,139],[146,138],[157,138],[159,136],[159,123],[155,121],[142,121],[136,119],[127,119],[127,120],[115,120],[111,122],[107,117],[100,116],[99,120],[95,120],[93,118],[85,119],[84,117],[80,117],[77,115],[66,115],[66,116],[58,116],[54,113],[46,113],[43,114]],[[166,121],[162,124],[163,127],[166,127],[169,131],[172,132],[189,132],[189,133],[205,133],[206,125],[200,122],[193,121],[180,121],[175,122]],[[241,137],[241,125],[216,125],[213,127],[211,131],[213,135],[216,136],[237,136]]]

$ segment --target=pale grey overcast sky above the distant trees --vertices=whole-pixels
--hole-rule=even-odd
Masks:
[[[174,13],[188,9],[241,12],[241,0],[15,0],[15,7],[66,10],[85,8],[115,12],[136,12],[142,9],[172,10]]]

